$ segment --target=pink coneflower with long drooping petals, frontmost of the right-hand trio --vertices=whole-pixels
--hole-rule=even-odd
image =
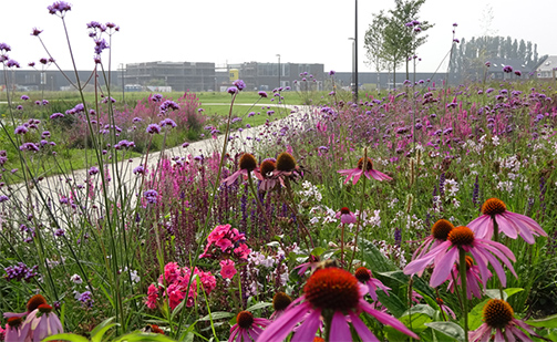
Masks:
[[[510,249],[499,242],[476,238],[472,229],[464,226],[453,228],[445,242],[435,247],[422,258],[410,262],[404,268],[404,274],[417,273],[435,260],[436,263],[431,276],[430,284],[432,288],[436,288],[448,278],[461,248],[470,252],[474,260],[476,260],[483,283],[487,281],[487,263],[491,263],[503,287],[506,286],[507,278],[505,276],[505,270],[495,257],[503,261],[513,274],[517,277],[509,261],[509,259],[516,261]]]

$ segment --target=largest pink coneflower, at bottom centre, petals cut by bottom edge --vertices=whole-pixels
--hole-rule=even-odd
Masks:
[[[348,271],[339,268],[319,269],[308,279],[303,292],[278,320],[267,327],[257,341],[283,341],[298,323],[301,325],[296,329],[293,339],[312,341],[322,323],[323,314],[330,318],[330,327],[326,329],[329,329],[331,341],[352,341],[349,322],[363,341],[378,341],[360,320],[362,311],[383,324],[419,339],[395,318],[373,309],[363,299],[367,289]]]

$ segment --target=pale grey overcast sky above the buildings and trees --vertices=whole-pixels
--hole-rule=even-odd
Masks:
[[[2,0],[8,2],[7,0]],[[19,0],[2,7],[0,42],[11,45],[10,58],[23,66],[47,56],[41,38],[62,69],[70,69],[68,44],[60,18],[49,14],[53,1]],[[112,21],[121,27],[113,37],[112,69],[120,63],[172,61],[225,63],[249,61],[323,63],[326,71],[352,70],[354,1],[341,0],[74,0],[66,24],[78,69],[93,68],[93,41],[85,24]],[[360,72],[372,71],[363,62],[363,37],[372,14],[394,6],[391,1],[358,1]],[[493,9],[488,25],[486,9]],[[556,0],[426,0],[420,20],[435,27],[417,51],[417,71],[433,72],[451,48],[452,24],[458,39],[491,31],[538,44],[538,53],[557,54]],[[484,23],[483,23],[484,22]],[[488,21],[487,21],[488,22]],[[106,54],[106,55],[105,55]],[[107,51],[103,52],[107,58]],[[104,60],[103,60],[104,61]],[[446,63],[441,71],[446,70]]]

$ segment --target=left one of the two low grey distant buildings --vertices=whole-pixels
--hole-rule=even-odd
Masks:
[[[215,63],[146,62],[126,64],[125,84],[171,86],[173,91],[214,91]],[[122,77],[122,75],[120,75]]]

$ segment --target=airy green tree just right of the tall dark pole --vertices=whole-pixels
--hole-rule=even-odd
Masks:
[[[405,63],[406,80],[410,63],[415,62],[415,51],[427,40],[425,31],[433,24],[420,21],[419,12],[425,0],[395,0],[394,9],[373,14],[365,32],[364,44],[368,63],[381,70],[392,70],[396,83],[396,68]]]

